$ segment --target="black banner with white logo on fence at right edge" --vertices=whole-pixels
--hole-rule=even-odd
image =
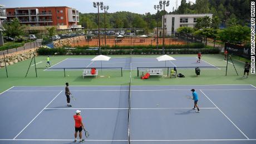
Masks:
[[[250,59],[250,48],[245,48],[232,43],[225,43],[225,49],[228,50],[229,54],[234,54],[236,56],[244,57]]]

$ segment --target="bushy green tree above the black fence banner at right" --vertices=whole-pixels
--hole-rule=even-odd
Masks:
[[[247,26],[231,26],[225,28],[218,33],[218,38],[223,42],[245,42],[249,41],[250,28]]]

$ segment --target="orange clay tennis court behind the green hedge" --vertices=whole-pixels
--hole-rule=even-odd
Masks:
[[[159,45],[163,44],[163,38],[159,38]],[[105,45],[104,37],[101,38],[101,46]],[[184,41],[174,38],[165,38],[165,44],[186,44]],[[77,41],[75,46],[98,46],[99,40],[92,39],[91,41]],[[133,38],[106,38],[106,45],[109,46],[138,46],[138,45],[153,45],[156,46],[156,38],[142,38],[142,37],[133,37]]]

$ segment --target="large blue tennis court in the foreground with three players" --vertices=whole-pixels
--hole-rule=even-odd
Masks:
[[[186,98],[192,88],[200,113]],[[252,85],[131,86],[130,123],[129,86],[70,91],[73,107],[66,106],[65,86],[18,86],[1,93],[0,143],[75,143],[76,110],[90,132],[85,143],[127,143],[129,135],[132,144],[256,143]]]

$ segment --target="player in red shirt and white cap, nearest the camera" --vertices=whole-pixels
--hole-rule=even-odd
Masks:
[[[85,126],[83,126],[82,117],[80,116],[81,111],[76,110],[76,115],[74,115],[75,120],[75,142],[77,137],[77,131],[79,131],[79,138],[80,142],[84,142],[85,140],[82,139],[82,130],[85,129]]]

